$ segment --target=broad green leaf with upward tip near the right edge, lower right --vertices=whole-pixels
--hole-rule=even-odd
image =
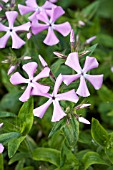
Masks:
[[[93,139],[101,146],[106,146],[109,140],[107,131],[101,126],[98,120],[92,119],[91,134]]]

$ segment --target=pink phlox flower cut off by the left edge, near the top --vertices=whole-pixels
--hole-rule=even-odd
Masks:
[[[9,39],[9,37],[12,38],[12,48],[18,49],[21,48],[25,44],[25,41],[23,41],[18,35],[17,32],[20,31],[29,31],[29,28],[31,26],[30,22],[27,22],[20,26],[14,27],[14,22],[18,16],[18,12],[16,11],[8,11],[6,12],[6,17],[8,19],[9,26],[5,26],[2,23],[0,23],[0,32],[6,32],[6,34],[0,38],[0,48],[5,48],[6,43]]]

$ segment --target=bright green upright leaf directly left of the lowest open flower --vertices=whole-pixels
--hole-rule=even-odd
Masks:
[[[18,114],[20,127],[21,127],[21,133],[23,135],[26,135],[29,133],[32,124],[33,124],[33,99],[30,98],[27,102],[25,102]]]

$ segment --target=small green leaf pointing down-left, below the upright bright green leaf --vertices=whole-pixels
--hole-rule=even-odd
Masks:
[[[15,138],[9,141],[8,143],[8,156],[9,158],[13,157],[13,155],[18,150],[21,142],[25,139],[25,136],[21,136],[19,138]]]

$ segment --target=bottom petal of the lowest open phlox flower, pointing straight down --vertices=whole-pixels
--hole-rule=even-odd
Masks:
[[[53,110],[53,116],[52,116],[52,122],[57,122],[60,119],[62,119],[64,116],[66,116],[65,112],[62,110],[60,104],[58,101],[53,100],[54,110]]]

